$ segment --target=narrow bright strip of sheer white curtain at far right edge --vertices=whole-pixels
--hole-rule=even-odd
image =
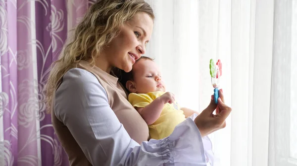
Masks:
[[[297,0],[274,8],[269,166],[297,166]]]

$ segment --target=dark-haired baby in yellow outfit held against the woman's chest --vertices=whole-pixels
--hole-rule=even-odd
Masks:
[[[169,136],[179,123],[197,113],[180,108],[174,95],[166,92],[161,72],[151,58],[142,56],[127,74],[128,100],[147,122],[150,138]]]

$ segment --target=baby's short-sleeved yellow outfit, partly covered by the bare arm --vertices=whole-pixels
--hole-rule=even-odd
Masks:
[[[166,92],[158,91],[147,94],[131,93],[128,96],[128,100],[134,107],[144,108],[164,93]],[[174,128],[185,119],[184,112],[180,110],[177,102],[172,104],[166,103],[160,117],[153,124],[148,125],[150,138],[162,139],[169,136],[173,132]]]

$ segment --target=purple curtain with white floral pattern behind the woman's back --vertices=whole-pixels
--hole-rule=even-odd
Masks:
[[[42,89],[96,0],[0,0],[0,166],[68,166]]]

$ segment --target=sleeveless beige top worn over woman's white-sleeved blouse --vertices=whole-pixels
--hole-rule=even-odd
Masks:
[[[99,83],[101,84],[101,86],[104,88],[106,92],[106,95],[108,98],[108,104],[110,108],[113,110],[117,119],[120,121],[120,123],[123,125],[123,127],[126,129],[126,131],[128,132],[128,134],[133,140],[135,140],[138,143],[148,140],[148,126],[146,122],[143,120],[140,114],[133,108],[133,106],[128,102],[127,95],[123,90],[122,86],[119,84],[118,79],[116,77],[102,71],[99,67],[89,65],[89,63],[86,61],[81,61],[73,68],[84,69],[86,71],[91,72],[94,76],[96,76]],[[74,129],[79,130],[80,128],[81,129],[90,128],[90,124],[92,124],[90,122],[91,121],[90,117],[88,117],[88,119],[86,119],[86,117],[76,117],[78,118],[79,121],[77,121],[77,123],[74,123],[74,124],[77,124],[77,126],[73,126],[74,129],[69,130],[68,129],[69,126],[67,127],[66,125],[72,119],[70,119],[69,116],[64,116],[64,115],[65,114],[69,115],[69,113],[71,113],[73,110],[68,110],[70,107],[65,107],[65,106],[63,107],[61,106],[61,103],[60,103],[60,101],[63,100],[63,102],[66,101],[70,105],[77,104],[78,106],[80,106],[79,105],[80,103],[77,103],[77,102],[72,103],[73,101],[71,100],[71,94],[68,93],[68,97],[67,97],[63,93],[67,91],[67,87],[68,87],[67,85],[69,84],[69,87],[71,87],[70,84],[76,83],[75,81],[76,79],[73,79],[69,82],[69,80],[67,79],[66,82],[63,82],[63,77],[62,77],[57,82],[57,85],[55,88],[56,92],[54,92],[53,94],[53,103],[52,103],[53,110],[51,111],[52,112],[51,120],[52,120],[54,131],[59,141],[61,142],[65,152],[69,157],[70,165],[71,166],[92,166],[92,164],[88,161],[87,158],[92,158],[93,156],[90,157],[88,156],[90,154],[88,154],[87,155],[88,157],[86,157],[86,155],[83,153],[83,150],[82,150],[82,148],[84,148],[84,145],[79,145],[76,141],[77,138],[75,139],[74,136],[71,134],[73,133],[71,130],[74,130]],[[86,85],[82,85],[85,87],[92,86],[92,82],[90,82],[90,80],[86,80],[84,82],[79,82],[79,83],[86,84]],[[62,84],[64,84],[63,88],[59,88]],[[90,85],[87,85],[87,84],[90,84]],[[83,88],[75,89],[71,91],[73,91],[73,93],[75,92],[76,94],[80,93],[81,95],[85,95]],[[96,92],[94,92],[94,94],[96,95]],[[88,98],[88,96],[86,96],[86,98]],[[84,104],[83,102],[84,101],[82,101],[82,104]],[[96,113],[98,114],[96,110],[92,109],[93,107],[92,104],[90,103],[87,103],[87,104],[89,105],[88,105],[88,108],[86,107],[86,109],[93,111],[94,114]],[[81,111],[86,111],[86,110],[81,110]],[[113,115],[110,115],[110,116],[113,116]],[[90,124],[89,123],[80,124],[85,120],[86,122],[90,122]],[[109,128],[111,126],[110,124],[108,125],[108,121],[106,122],[106,124],[102,124],[102,125],[105,125],[106,128]],[[94,132],[95,129],[92,128],[92,130]],[[112,131],[112,130],[114,129],[108,129],[107,131]],[[100,133],[100,129],[98,129],[98,133]],[[86,134],[92,134],[92,133],[86,133]],[[98,135],[95,135],[96,138],[97,136]],[[88,142],[86,142],[86,146],[88,146],[87,143]]]

